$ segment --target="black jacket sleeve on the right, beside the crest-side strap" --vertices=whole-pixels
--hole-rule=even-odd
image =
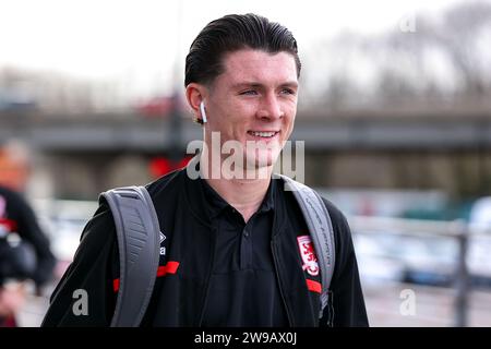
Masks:
[[[345,216],[324,200],[330,212],[336,245],[336,262],[330,301],[321,324],[334,327],[369,326],[351,231]]]

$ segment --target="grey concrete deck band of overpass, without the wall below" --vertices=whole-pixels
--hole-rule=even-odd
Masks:
[[[182,120],[181,135],[170,118],[148,119],[137,115],[0,116],[0,141],[19,137],[33,147],[50,152],[124,151],[159,153],[169,149],[172,137],[182,146],[200,140],[200,125]],[[291,140],[306,141],[308,152],[337,149],[483,149],[491,148],[491,110],[480,115],[430,117],[297,116]]]

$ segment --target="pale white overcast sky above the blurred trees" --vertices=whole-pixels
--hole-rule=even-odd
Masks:
[[[400,31],[458,0],[0,0],[0,68],[56,71],[161,88],[209,21],[254,12],[286,25],[300,50],[349,29]],[[181,76],[177,76],[181,81]],[[147,92],[147,91],[146,91]]]

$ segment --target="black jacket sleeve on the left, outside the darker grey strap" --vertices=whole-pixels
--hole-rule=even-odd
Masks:
[[[109,326],[116,304],[112,280],[117,258],[112,215],[103,205],[85,226],[41,326]]]

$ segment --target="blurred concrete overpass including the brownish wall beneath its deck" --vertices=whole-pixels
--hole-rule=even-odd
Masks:
[[[190,119],[136,113],[0,115],[0,141],[17,137],[43,155],[36,167],[53,195],[93,198],[107,188],[145,183],[148,160],[201,140]],[[491,194],[489,112],[299,111],[291,140],[306,141],[306,182],[325,188],[441,190],[454,197]],[[184,151],[182,151],[182,154]],[[38,159],[39,160],[39,159]]]

